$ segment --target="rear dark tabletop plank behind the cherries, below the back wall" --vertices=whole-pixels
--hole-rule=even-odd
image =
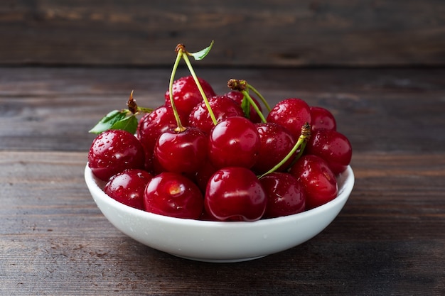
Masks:
[[[445,71],[197,69],[215,91],[235,77],[271,105],[300,97],[330,109],[355,151],[441,152],[445,147]],[[170,70],[0,68],[0,150],[77,150],[87,131],[134,89],[141,106],[163,104]],[[187,75],[181,70],[178,77]],[[428,116],[425,116],[428,114]]]

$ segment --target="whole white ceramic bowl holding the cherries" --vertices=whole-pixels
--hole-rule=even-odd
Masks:
[[[254,222],[178,219],[128,207],[102,191],[88,165],[85,182],[104,216],[132,239],[195,261],[238,262],[297,246],[319,234],[341,211],[353,190],[353,170],[338,176],[338,196],[315,209]]]

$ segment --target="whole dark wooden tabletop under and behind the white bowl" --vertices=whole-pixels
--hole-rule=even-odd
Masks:
[[[181,70],[178,75],[186,74]],[[350,138],[355,187],[288,251],[200,263],[129,239],[85,186],[87,131],[129,93],[163,102],[170,69],[0,68],[1,295],[445,295],[445,70],[198,68],[301,97]]]

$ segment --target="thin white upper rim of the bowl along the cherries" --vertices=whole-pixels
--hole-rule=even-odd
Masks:
[[[151,212],[146,212],[141,209],[136,209],[133,207],[129,207],[126,204],[122,204],[121,202],[117,202],[117,200],[109,197],[103,190],[102,187],[106,182],[100,180],[99,178],[93,175],[90,167],[85,165],[85,182],[90,191],[92,193],[93,199],[100,198],[103,202],[106,202],[110,207],[119,208],[127,214],[132,214],[135,216],[139,216],[144,219],[151,219],[154,221],[158,221],[160,223],[166,224],[188,224],[190,226],[200,226],[200,227],[224,227],[227,229],[231,228],[239,228],[240,226],[244,227],[261,227],[261,226],[270,226],[272,224],[282,224],[288,221],[294,221],[295,219],[305,219],[306,217],[313,216],[319,214],[320,212],[325,212],[328,209],[338,206],[338,204],[345,203],[350,195],[350,192],[353,190],[353,186],[355,183],[355,176],[350,165],[346,168],[344,172],[337,175],[337,180],[341,182],[341,186],[338,187],[337,197],[332,199],[330,202],[323,204],[319,207],[308,209],[304,212],[300,212],[298,214],[291,214],[288,216],[279,216],[275,218],[268,219],[259,219],[257,221],[207,221],[207,220],[197,220],[197,219],[183,219],[176,218],[171,216],[163,216],[160,214],[154,214]],[[339,183],[340,183],[339,182]]]

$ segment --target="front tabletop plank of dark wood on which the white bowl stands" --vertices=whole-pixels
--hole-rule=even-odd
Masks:
[[[444,153],[356,154],[353,194],[325,231],[289,251],[227,264],[175,258],[114,229],[83,183],[85,153],[2,151],[0,165],[5,295],[445,291]]]

